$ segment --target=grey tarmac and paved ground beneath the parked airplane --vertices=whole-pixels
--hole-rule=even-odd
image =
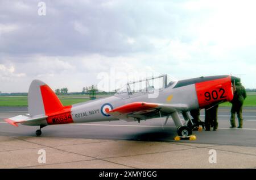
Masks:
[[[0,107],[0,168],[256,168],[256,108],[243,111],[243,129],[229,128],[229,108],[219,108],[217,131],[174,141],[172,120],[152,119],[52,125],[42,129],[3,121],[27,107]],[[201,112],[204,120],[204,112]],[[38,150],[46,150],[46,163]],[[211,149],[216,163],[210,163]]]

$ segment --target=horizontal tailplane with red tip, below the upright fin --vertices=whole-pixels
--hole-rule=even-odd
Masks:
[[[38,121],[46,119],[48,116],[31,117],[30,115],[18,115],[13,118],[5,119],[5,121],[11,125],[18,126],[18,123],[22,124],[34,124]]]

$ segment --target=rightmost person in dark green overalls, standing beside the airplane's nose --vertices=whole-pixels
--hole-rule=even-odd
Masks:
[[[236,90],[234,91],[234,98],[232,99],[231,117],[230,117],[230,128],[235,128],[236,126],[236,113],[238,118],[238,127],[243,128],[243,118],[242,118],[242,106],[243,101],[246,98],[245,87],[242,86],[241,82],[235,83]]]

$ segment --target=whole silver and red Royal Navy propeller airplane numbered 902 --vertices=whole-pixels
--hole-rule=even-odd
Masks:
[[[189,111],[213,107],[233,99],[233,82],[237,77],[207,76],[177,81],[163,74],[141,81],[128,82],[112,97],[63,106],[46,83],[35,79],[28,90],[28,114],[5,119],[18,126],[39,126],[36,136],[47,125],[89,123],[113,120],[138,123],[141,120],[166,117],[174,120],[177,134],[192,135],[193,125]],[[181,120],[179,113],[183,115]],[[191,125],[188,125],[191,124]]]

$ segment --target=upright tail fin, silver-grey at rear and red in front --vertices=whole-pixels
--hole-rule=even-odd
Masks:
[[[46,83],[34,80],[28,90],[28,113],[31,116],[49,115],[64,109],[56,94]]]

